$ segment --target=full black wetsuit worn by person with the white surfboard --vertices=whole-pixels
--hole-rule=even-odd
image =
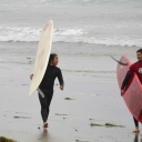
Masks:
[[[39,100],[40,100],[40,104],[41,104],[41,115],[42,115],[43,122],[47,122],[48,116],[49,116],[49,106],[50,106],[50,102],[52,100],[53,85],[54,85],[54,80],[57,77],[60,82],[60,85],[63,87],[64,83],[63,83],[61,70],[58,67],[48,65],[44,77],[39,85],[40,90],[44,94],[44,98],[42,98],[39,94]]]

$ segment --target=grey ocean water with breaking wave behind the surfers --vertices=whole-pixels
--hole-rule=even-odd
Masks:
[[[1,0],[0,61],[31,67],[41,30],[52,19],[52,52],[61,69],[114,81],[110,54],[134,62],[142,48],[141,9],[141,0]]]

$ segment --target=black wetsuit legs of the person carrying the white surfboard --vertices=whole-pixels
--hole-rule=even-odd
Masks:
[[[48,116],[49,116],[49,106],[53,97],[53,90],[47,90],[47,91],[42,91],[44,93],[44,98],[42,98],[39,94],[39,100],[40,100],[40,104],[41,104],[41,116],[43,122],[47,122]]]

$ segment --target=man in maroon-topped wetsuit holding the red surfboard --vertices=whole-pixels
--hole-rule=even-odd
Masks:
[[[121,87],[121,95],[124,94],[124,88],[129,83],[129,80],[131,79],[131,77],[134,72],[136,73],[140,82],[142,83],[142,49],[136,51],[136,58],[138,58],[138,61],[130,67],[128,73],[123,80],[123,83]],[[140,132],[139,122],[138,122],[138,120],[135,120],[134,116],[133,116],[133,120],[134,120],[134,124],[135,124],[135,130],[133,132],[139,133]]]

